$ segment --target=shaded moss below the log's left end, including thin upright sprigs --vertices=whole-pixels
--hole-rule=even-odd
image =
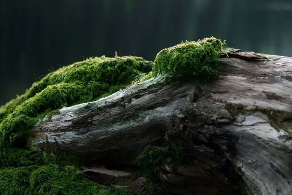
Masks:
[[[56,142],[57,144],[57,142]],[[55,147],[46,155],[20,148],[0,150],[1,195],[132,195],[127,188],[111,188],[88,180],[73,164],[75,159],[62,156],[55,164]],[[64,161],[64,159],[68,161]],[[51,164],[54,163],[54,164]]]

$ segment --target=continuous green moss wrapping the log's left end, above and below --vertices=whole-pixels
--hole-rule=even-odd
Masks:
[[[131,195],[126,188],[91,182],[73,167],[74,156],[62,154],[58,143],[44,151],[21,149],[24,132],[36,122],[59,114],[63,106],[96,100],[148,73],[148,61],[139,57],[91,58],[49,73],[25,94],[0,107],[1,195]],[[21,148],[13,148],[17,146]]]

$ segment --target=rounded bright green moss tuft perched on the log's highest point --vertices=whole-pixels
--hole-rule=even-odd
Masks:
[[[165,48],[157,54],[152,74],[154,77],[167,73],[177,78],[210,78],[219,68],[223,44],[220,39],[211,37]]]

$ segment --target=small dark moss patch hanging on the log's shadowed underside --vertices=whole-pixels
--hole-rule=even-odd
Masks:
[[[147,183],[161,190],[164,183],[159,178],[159,170],[163,163],[167,161],[174,166],[183,166],[186,157],[183,148],[176,144],[171,144],[168,150],[148,150],[140,153],[133,161],[133,164],[139,167],[139,170],[145,174]]]

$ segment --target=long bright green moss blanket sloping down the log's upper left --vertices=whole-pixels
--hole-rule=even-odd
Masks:
[[[151,62],[139,57],[91,58],[49,73],[24,95],[0,107],[0,140],[19,141],[22,132],[51,111],[108,96],[148,73]],[[57,111],[54,111],[57,113]],[[51,117],[51,115],[49,116]]]

